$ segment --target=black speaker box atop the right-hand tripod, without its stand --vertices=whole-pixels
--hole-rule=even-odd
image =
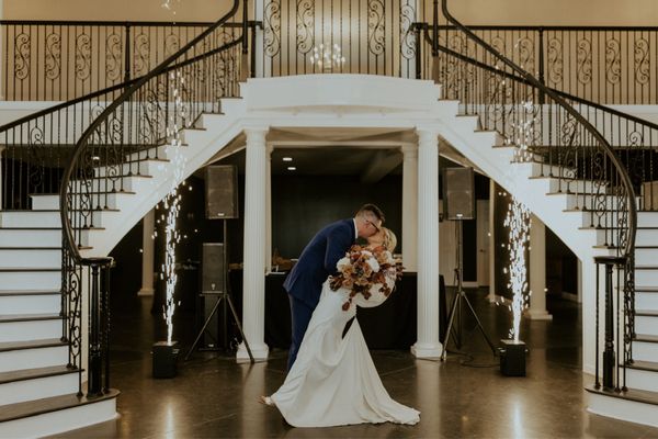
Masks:
[[[443,217],[475,219],[473,168],[443,169]]]

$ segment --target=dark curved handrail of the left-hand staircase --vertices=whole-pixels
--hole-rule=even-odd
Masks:
[[[164,59],[162,63],[160,63],[156,68],[154,68],[147,75],[137,79],[132,86],[129,86],[129,88],[127,90],[125,90],[117,99],[115,99],[110,105],[107,105],[107,108],[105,108],[105,110],[103,110],[103,112],[87,127],[84,133],[82,133],[82,135],[80,136],[80,139],[76,143],[76,148],[75,148],[75,150],[71,155],[71,158],[69,159],[69,162],[64,171],[64,176],[61,178],[61,187],[59,188],[59,217],[61,219],[63,234],[64,234],[65,240],[67,243],[68,249],[71,252],[71,256],[76,260],[76,262],[81,263],[81,264],[89,263],[88,261],[86,261],[87,258],[83,258],[80,255],[80,250],[73,238],[73,232],[72,232],[71,225],[69,223],[69,218],[68,218],[68,204],[66,203],[66,200],[68,196],[68,185],[69,185],[70,179],[71,179],[73,167],[76,166],[78,158],[82,154],[82,150],[87,146],[89,138],[94,133],[94,131],[101,125],[101,123],[103,123],[114,112],[114,110],[116,110],[118,108],[118,105],[123,104],[131,95],[133,95],[135,93],[135,91],[137,91],[141,86],[144,86],[151,78],[154,78],[162,72],[166,72],[167,68],[169,67],[169,65],[171,63],[173,63],[181,55],[185,54],[185,52],[188,52],[188,49],[190,49],[191,47],[196,45],[198,42],[203,41],[206,36],[212,34],[216,29],[220,27],[224,23],[226,23],[229,19],[231,19],[238,11],[239,5],[240,5],[240,1],[234,0],[234,4],[232,4],[232,8],[230,9],[230,11],[228,11],[215,24],[213,24],[207,30],[205,30],[204,32],[198,34],[196,37],[191,40],[188,44],[185,44],[177,53],[174,53],[173,55],[171,55],[170,57]],[[241,42],[241,41],[238,40],[238,42]]]

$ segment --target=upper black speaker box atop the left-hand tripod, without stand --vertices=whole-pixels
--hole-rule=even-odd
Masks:
[[[206,167],[206,218],[237,218],[238,170],[232,165]]]

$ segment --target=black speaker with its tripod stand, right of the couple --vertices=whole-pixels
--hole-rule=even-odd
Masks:
[[[441,360],[445,361],[447,352],[447,342],[451,336],[457,349],[462,348],[462,333],[463,333],[463,316],[462,316],[462,303],[466,303],[467,309],[474,317],[477,327],[485,337],[485,340],[491,348],[491,351],[496,356],[496,347],[487,336],[483,324],[480,323],[475,308],[468,301],[466,293],[463,289],[463,244],[462,244],[462,221],[475,219],[475,177],[473,168],[445,168],[443,169],[443,215],[445,218],[456,221],[455,227],[455,284],[457,291],[453,299],[453,303],[450,309],[450,316],[447,318],[447,327],[443,338],[443,350],[441,352]]]

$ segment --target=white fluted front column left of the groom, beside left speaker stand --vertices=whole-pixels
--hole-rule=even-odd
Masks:
[[[242,328],[257,359],[268,358],[265,336],[265,171],[266,128],[247,128],[245,176],[245,251],[242,278]],[[249,359],[240,344],[237,360]]]

